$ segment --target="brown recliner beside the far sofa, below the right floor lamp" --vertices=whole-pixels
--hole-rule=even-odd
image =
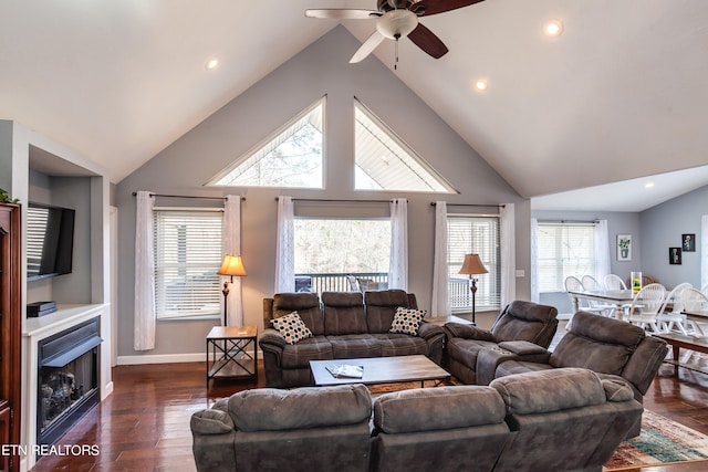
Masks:
[[[465,384],[489,385],[498,364],[514,358],[535,360],[534,356],[545,353],[555,335],[556,316],[558,310],[553,306],[514,301],[497,317],[491,331],[447,323],[450,373]],[[519,340],[532,345],[517,343]],[[482,366],[486,371],[478,371]]]

